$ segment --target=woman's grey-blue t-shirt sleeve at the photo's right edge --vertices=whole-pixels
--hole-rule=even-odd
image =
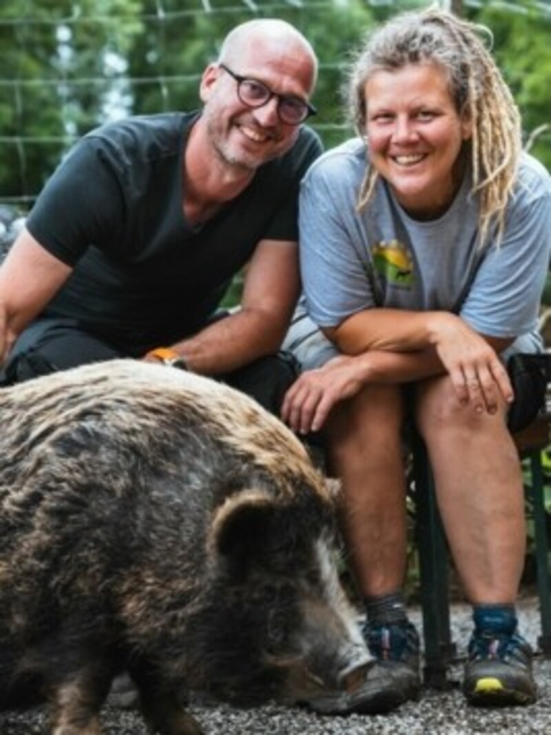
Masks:
[[[551,186],[548,176],[520,186],[511,202],[503,241],[480,264],[461,316],[491,337],[515,337],[536,329],[550,265]]]

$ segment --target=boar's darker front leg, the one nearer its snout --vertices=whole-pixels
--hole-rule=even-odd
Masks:
[[[176,694],[158,672],[143,667],[131,670],[140,692],[140,705],[148,730],[155,735],[203,735],[201,725],[186,711],[184,695]]]

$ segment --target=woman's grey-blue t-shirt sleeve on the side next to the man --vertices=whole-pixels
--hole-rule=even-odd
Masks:
[[[318,326],[337,326],[375,306],[356,187],[343,159],[326,158],[300,187],[300,272],[309,315]]]

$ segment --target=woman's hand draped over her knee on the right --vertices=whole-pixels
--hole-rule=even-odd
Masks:
[[[449,374],[458,399],[477,412],[497,411],[500,396],[514,399],[507,370],[484,337],[453,314],[435,312],[430,325],[431,343]]]

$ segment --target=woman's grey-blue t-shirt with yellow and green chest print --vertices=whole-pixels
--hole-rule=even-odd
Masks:
[[[490,337],[517,337],[515,351],[541,349],[538,313],[551,254],[551,179],[524,154],[499,246],[478,243],[478,204],[467,175],[447,212],[415,221],[378,180],[356,212],[367,151],[358,138],[311,166],[300,193],[300,268],[306,308],[337,326],[383,306],[461,315]]]

